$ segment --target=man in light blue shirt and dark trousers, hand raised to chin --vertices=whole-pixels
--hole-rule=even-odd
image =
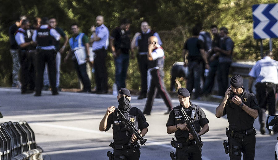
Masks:
[[[95,52],[94,67],[95,67],[95,83],[96,93],[102,94],[107,93],[107,69],[106,61],[107,48],[109,44],[109,30],[103,24],[104,19],[102,15],[98,15],[95,19],[97,27],[92,26],[91,31],[93,32],[90,43],[93,43],[92,48]]]

